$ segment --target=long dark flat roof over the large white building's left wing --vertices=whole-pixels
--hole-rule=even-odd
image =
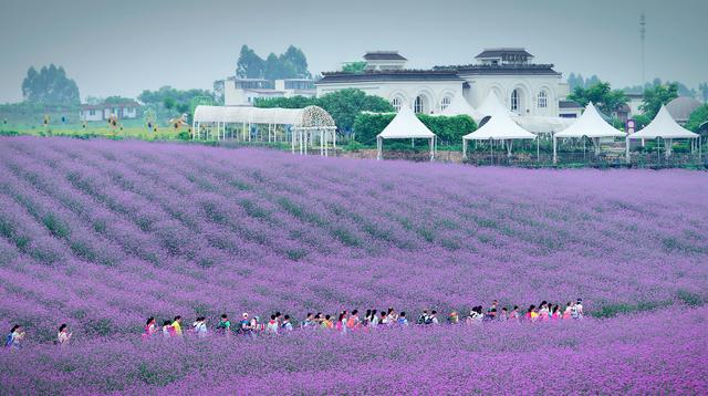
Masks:
[[[464,80],[455,71],[437,70],[382,70],[363,73],[325,72],[315,84],[353,83],[374,81],[459,81]]]

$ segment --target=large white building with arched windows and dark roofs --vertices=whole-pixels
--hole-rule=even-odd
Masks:
[[[316,94],[360,88],[388,100],[394,107],[410,106],[416,113],[439,113],[457,94],[478,107],[489,92],[520,116],[577,116],[581,107],[565,101],[568,85],[552,64],[532,63],[524,49],[487,49],[468,65],[406,70],[406,59],[395,51],[369,52],[362,73],[323,73]],[[563,102],[562,102],[563,101]],[[561,104],[562,102],[562,104]]]

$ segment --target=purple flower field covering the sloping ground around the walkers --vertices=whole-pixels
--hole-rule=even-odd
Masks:
[[[0,139],[0,394],[706,394],[708,174]],[[583,298],[562,323],[144,343],[145,319]],[[52,344],[69,323],[69,347]]]

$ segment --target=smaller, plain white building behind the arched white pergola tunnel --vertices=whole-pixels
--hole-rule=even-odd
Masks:
[[[259,97],[292,97],[315,95],[310,79],[285,79],[274,82],[262,79],[228,77],[223,82],[226,106],[252,106]]]

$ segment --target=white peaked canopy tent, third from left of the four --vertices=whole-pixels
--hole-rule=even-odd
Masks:
[[[585,112],[568,128],[553,135],[553,164],[558,163],[558,139],[559,138],[584,138],[587,137],[593,142],[595,155],[600,154],[600,138],[602,137],[625,137],[622,131],[607,124],[602,118],[595,106],[591,103],[585,107]],[[583,140],[583,145],[584,145]],[[584,147],[584,146],[583,146]]]

